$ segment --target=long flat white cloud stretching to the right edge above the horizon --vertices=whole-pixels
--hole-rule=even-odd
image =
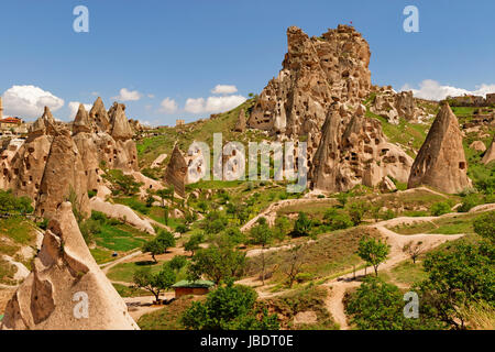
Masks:
[[[400,88],[400,90],[413,90],[413,94],[416,98],[428,100],[443,100],[448,96],[457,97],[463,95],[474,95],[485,97],[488,92],[495,92],[495,85],[482,84],[480,86],[476,86],[475,90],[468,90],[452,86],[442,86],[436,80],[425,79],[419,84],[419,89],[415,89],[406,84],[403,88]]]

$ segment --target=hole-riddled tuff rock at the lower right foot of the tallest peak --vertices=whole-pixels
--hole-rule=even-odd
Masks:
[[[346,191],[356,185],[392,188],[388,176],[407,182],[413,158],[387,142],[378,120],[332,105],[310,166],[314,189]]]

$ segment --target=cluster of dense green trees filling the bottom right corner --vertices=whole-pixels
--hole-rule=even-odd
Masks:
[[[473,227],[481,240],[455,241],[426,255],[422,265],[428,276],[411,288],[420,302],[418,318],[405,318],[404,296],[395,285],[378,277],[366,277],[346,299],[351,322],[359,329],[470,328],[471,317],[466,311],[495,305],[495,211],[476,218]],[[365,261],[372,263],[374,257],[377,263],[381,255],[376,254],[385,253],[378,246],[376,242],[360,244],[360,255],[366,257],[364,249],[375,252]],[[419,248],[410,244],[405,250],[418,253]]]

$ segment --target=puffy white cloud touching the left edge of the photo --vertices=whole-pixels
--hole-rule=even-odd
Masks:
[[[2,96],[6,114],[24,119],[36,119],[46,107],[57,111],[64,106],[64,99],[35,86],[12,86]]]

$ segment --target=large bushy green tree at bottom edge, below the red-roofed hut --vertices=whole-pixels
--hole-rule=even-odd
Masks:
[[[248,286],[229,282],[208,294],[205,302],[195,301],[182,322],[193,330],[277,330],[276,315],[256,309],[257,294]]]

